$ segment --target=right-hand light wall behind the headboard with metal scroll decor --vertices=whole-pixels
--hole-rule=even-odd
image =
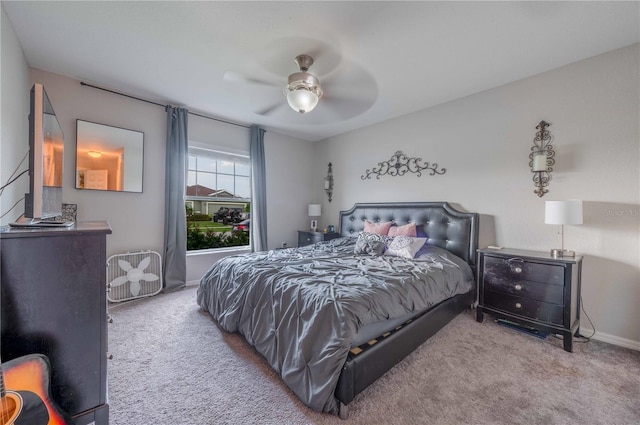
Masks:
[[[638,53],[636,44],[317,143],[314,181],[329,162],[335,179],[321,225],[356,202],[449,201],[481,214],[481,247],[547,251],[560,236],[544,224],[544,202],[582,199],[584,224],[565,226],[565,246],[585,256],[584,308],[597,338],[640,349]],[[528,155],[543,119],[556,165],[539,198]],[[447,171],[361,179],[396,150]]]

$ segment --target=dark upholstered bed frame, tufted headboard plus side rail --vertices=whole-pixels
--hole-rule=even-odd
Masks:
[[[465,260],[476,275],[479,216],[458,211],[447,202],[355,204],[340,212],[340,235],[357,236],[365,220],[392,221],[398,226],[416,223],[418,237],[427,245],[444,248]],[[376,379],[413,352],[476,300],[475,290],[456,295],[406,322],[395,331],[382,335],[347,357],[335,396],[339,415],[349,416],[347,405]]]

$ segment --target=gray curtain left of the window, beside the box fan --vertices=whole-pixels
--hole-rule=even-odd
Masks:
[[[184,203],[189,111],[167,106],[164,202],[164,291],[187,282],[187,214]]]

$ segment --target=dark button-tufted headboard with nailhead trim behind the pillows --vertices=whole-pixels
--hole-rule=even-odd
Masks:
[[[447,202],[355,204],[340,212],[340,235],[357,236],[364,221],[392,221],[398,226],[416,223],[418,237],[465,260],[475,271],[478,248],[477,213],[458,211]]]

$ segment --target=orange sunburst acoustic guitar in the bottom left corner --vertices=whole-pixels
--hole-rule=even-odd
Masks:
[[[0,365],[0,425],[70,423],[49,395],[49,360],[44,355],[29,354]]]

